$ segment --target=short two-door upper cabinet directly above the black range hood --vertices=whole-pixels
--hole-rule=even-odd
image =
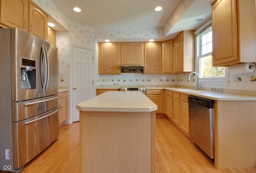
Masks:
[[[121,64],[144,65],[144,43],[121,43]]]

